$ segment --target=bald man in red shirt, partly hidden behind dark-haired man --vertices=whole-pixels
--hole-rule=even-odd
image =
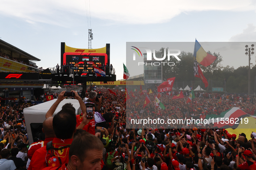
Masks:
[[[29,151],[28,151],[28,156],[29,159],[31,160],[33,154],[35,153],[35,151],[39,148],[42,148],[43,146],[45,146],[48,142],[52,141],[53,138],[55,138],[55,133],[53,131],[52,128],[52,119],[53,117],[48,117],[47,119],[45,119],[45,121],[43,122],[43,128],[42,128],[42,132],[45,133],[45,140],[44,141],[37,141],[32,143],[29,146]]]

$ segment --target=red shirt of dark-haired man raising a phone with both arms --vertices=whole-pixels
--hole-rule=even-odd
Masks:
[[[52,147],[60,148],[62,146],[71,145],[72,141],[73,139],[54,138],[52,141]],[[69,147],[64,148],[62,150],[55,150],[53,156],[60,157],[63,165],[65,163],[68,164],[68,153],[69,153]],[[37,149],[30,161],[28,170],[42,170],[44,167],[47,167],[45,160],[48,161],[50,157],[51,157],[51,150],[49,150],[47,153],[46,146]]]

